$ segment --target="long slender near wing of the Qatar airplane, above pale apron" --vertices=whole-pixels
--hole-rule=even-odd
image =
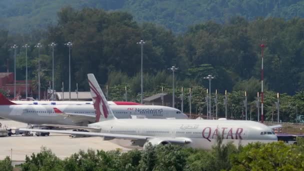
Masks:
[[[83,127],[83,126],[78,126]],[[144,136],[144,135],[130,135],[130,134],[118,134],[118,133],[101,133],[101,132],[82,132],[82,131],[71,131],[71,130],[52,130],[52,129],[30,129],[30,128],[19,128],[19,130],[24,131],[34,131],[34,132],[54,132],[54,133],[64,133],[64,134],[77,134],[77,135],[89,135],[89,136],[101,136],[117,139],[129,139],[129,140],[145,140],[153,142],[166,141],[170,143],[177,144],[188,144],[191,143],[191,139],[185,137],[156,137],[156,136]]]

